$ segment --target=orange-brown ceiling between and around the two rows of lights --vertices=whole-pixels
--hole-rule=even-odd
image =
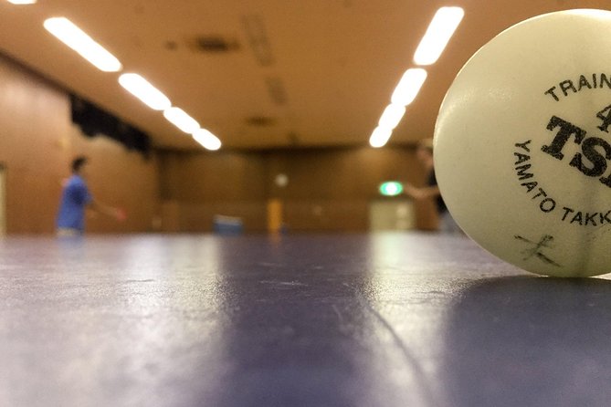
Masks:
[[[431,136],[458,69],[491,37],[530,16],[607,1],[464,0],[0,0],[0,51],[153,136],[196,149],[161,113],[43,28],[67,16],[213,131],[226,148],[364,145],[428,22],[441,5],[465,18],[391,143]],[[218,41],[220,40],[220,42]],[[201,45],[223,46],[205,52]]]

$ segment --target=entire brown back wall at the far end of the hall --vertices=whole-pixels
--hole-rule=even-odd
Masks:
[[[425,173],[413,148],[291,149],[259,152],[160,153],[163,229],[210,231],[213,216],[244,220],[265,231],[267,204],[279,201],[290,230],[360,232],[369,229],[369,205],[387,180],[422,185]],[[289,183],[280,187],[277,175]],[[416,203],[417,227],[432,229],[431,203]]]

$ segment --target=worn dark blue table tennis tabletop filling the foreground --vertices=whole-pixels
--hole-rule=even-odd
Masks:
[[[0,240],[2,406],[608,406],[611,282],[464,237]]]

